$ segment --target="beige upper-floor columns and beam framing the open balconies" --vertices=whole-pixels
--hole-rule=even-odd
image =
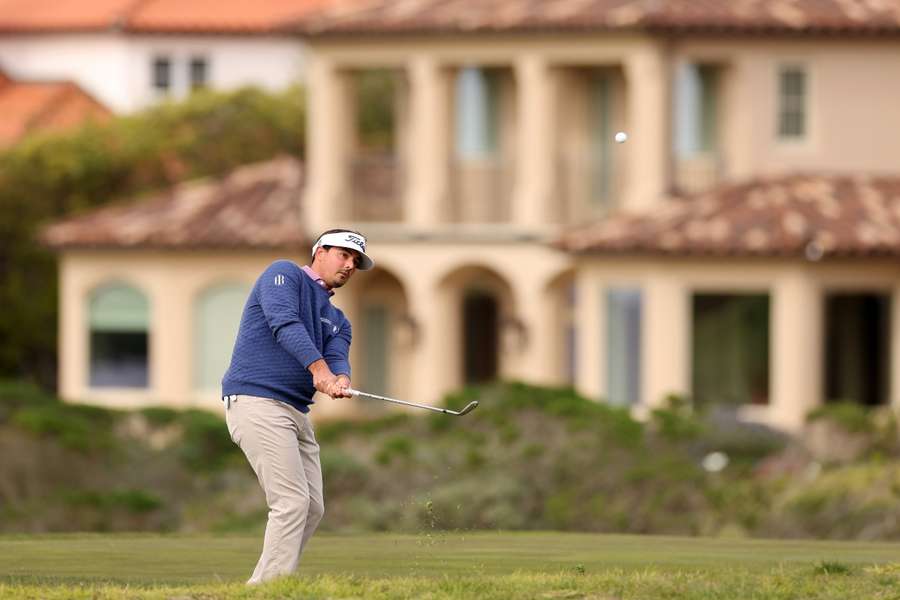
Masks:
[[[397,68],[407,73],[410,113],[401,118],[409,133],[407,156],[400,157],[409,174],[406,217],[398,229],[434,231],[448,224],[448,169],[452,153],[453,74],[463,66],[507,69],[503,97],[504,157],[513,161],[512,207],[508,228],[537,232],[555,230],[558,213],[556,163],[569,140],[556,130],[567,114],[566,89],[558,77],[567,69],[607,66],[623,81],[616,86],[621,115],[616,124],[632,141],[618,148],[621,204],[652,203],[667,183],[669,139],[668,48],[634,34],[604,36],[484,36],[474,38],[404,37],[316,40],[310,69],[310,227],[322,229],[347,222],[341,197],[341,168],[349,149],[343,140],[353,122],[345,98],[342,73],[364,68]],[[640,161],[629,161],[639,156]],[[465,187],[465,182],[463,182]]]

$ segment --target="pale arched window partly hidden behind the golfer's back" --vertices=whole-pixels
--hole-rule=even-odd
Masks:
[[[225,283],[206,289],[194,305],[194,388],[218,388],[231,363],[250,287]]]

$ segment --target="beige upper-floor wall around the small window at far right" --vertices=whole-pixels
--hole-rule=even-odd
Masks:
[[[900,154],[900,42],[892,39],[703,40],[678,60],[726,68],[725,168],[730,178],[796,170],[896,173]],[[809,77],[809,139],[776,136],[778,69]]]

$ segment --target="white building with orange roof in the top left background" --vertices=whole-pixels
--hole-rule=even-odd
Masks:
[[[118,113],[191,90],[303,79],[287,24],[324,0],[0,0],[0,68],[71,80]]]

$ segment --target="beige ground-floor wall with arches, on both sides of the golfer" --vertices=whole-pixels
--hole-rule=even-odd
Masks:
[[[369,247],[381,273],[357,273],[337,292],[334,303],[357,327],[366,302],[383,301],[395,317],[402,317],[391,335],[392,393],[419,402],[439,402],[460,385],[461,294],[472,287],[493,292],[502,317],[522,325],[501,328],[501,374],[545,383],[559,381],[560,365],[550,351],[560,332],[548,327],[545,317],[548,307],[557,301],[553,284],[569,268],[567,256],[536,244],[515,242],[410,244],[370,239]],[[162,403],[216,409],[217,394],[193,389],[194,302],[204,289],[217,283],[252,286],[277,258],[308,262],[306,256],[275,253],[230,254],[227,258],[213,253],[65,253],[60,276],[61,395],[117,407]],[[133,285],[149,300],[150,382],[146,390],[91,389],[87,382],[88,300],[92,290],[110,281]],[[361,344],[355,343],[351,359],[357,366],[362,364],[360,351]],[[354,402],[336,405],[327,399],[316,408],[320,417],[355,410]]]

